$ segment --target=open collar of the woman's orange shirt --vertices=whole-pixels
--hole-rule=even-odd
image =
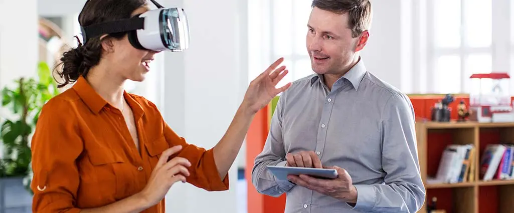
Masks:
[[[107,101],[105,101],[102,96],[100,96],[93,87],[86,81],[83,76],[80,76],[75,85],[72,87],[80,99],[84,101],[86,106],[93,111],[95,114],[98,114],[105,105],[107,105]],[[128,94],[126,91],[123,91],[123,97],[125,98],[127,104],[132,108],[132,112],[134,114],[134,119],[137,121],[144,114],[143,107],[134,99],[134,97]]]

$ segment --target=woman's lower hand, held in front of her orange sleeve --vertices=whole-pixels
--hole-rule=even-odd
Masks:
[[[178,181],[186,182],[186,177],[189,176],[187,167],[190,167],[191,163],[180,157],[168,161],[170,156],[181,149],[181,146],[174,146],[162,152],[148,184],[139,192],[145,203],[148,203],[148,207],[159,203],[174,183]]]

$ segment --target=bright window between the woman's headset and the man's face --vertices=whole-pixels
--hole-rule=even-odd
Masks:
[[[314,73],[305,46],[311,0],[248,1],[249,81],[284,57],[289,74],[277,85]]]

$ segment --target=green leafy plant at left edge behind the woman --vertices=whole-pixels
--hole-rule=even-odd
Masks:
[[[0,159],[0,177],[28,176],[31,171],[29,135],[38,122],[43,105],[59,94],[57,83],[45,62],[38,63],[37,72],[39,78],[16,79],[13,89],[2,89],[2,106],[10,109],[18,119],[4,120],[0,128],[0,142],[4,144],[5,151],[5,159]]]

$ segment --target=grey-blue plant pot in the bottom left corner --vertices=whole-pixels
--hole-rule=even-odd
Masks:
[[[24,177],[0,178],[0,212],[32,212],[32,195],[23,185]]]

